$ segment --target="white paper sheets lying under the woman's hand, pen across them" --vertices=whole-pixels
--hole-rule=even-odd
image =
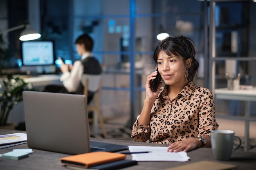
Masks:
[[[161,146],[129,146],[130,152],[144,152],[149,153],[132,154],[134,161],[189,161],[186,152],[167,152],[168,147]]]

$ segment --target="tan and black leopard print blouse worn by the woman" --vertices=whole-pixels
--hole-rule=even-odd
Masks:
[[[150,124],[132,126],[134,141],[171,144],[189,137],[211,135],[218,129],[215,104],[211,91],[189,82],[172,100],[167,95],[168,85],[160,89],[151,109]]]

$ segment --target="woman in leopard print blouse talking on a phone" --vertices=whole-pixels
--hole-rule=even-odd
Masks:
[[[211,147],[211,130],[218,129],[213,95],[193,82],[199,63],[193,41],[185,36],[168,37],[159,42],[153,56],[166,84],[154,93],[146,81],[146,99],[132,127],[135,141],[168,144],[169,152],[188,152]]]

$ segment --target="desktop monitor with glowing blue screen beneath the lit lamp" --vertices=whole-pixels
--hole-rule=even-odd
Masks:
[[[54,42],[24,41],[22,42],[23,66],[46,66],[54,63]]]

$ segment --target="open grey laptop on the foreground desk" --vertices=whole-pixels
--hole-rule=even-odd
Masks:
[[[23,91],[29,148],[71,155],[117,152],[128,146],[90,142],[85,95]]]

